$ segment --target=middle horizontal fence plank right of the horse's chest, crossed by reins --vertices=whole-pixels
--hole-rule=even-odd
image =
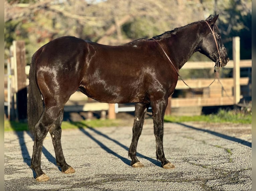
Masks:
[[[188,86],[191,88],[206,88],[213,82],[213,78],[209,79],[204,79],[204,78],[199,78],[199,79],[186,79],[185,82],[187,83]],[[230,88],[233,87],[233,78],[222,78],[220,79],[220,82],[224,86],[224,88]],[[243,77],[240,78],[240,85],[248,85],[249,83],[249,78],[248,77]],[[212,84],[219,84],[218,79],[215,80],[215,82]],[[175,88],[176,90],[184,90],[184,89],[189,89],[181,80],[178,80],[177,86]]]

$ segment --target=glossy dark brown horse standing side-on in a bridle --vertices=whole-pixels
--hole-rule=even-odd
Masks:
[[[216,25],[219,15],[120,46],[102,45],[72,36],[56,38],[32,56],[27,97],[28,127],[34,137],[31,168],[36,181],[49,177],[41,169],[43,140],[51,135],[56,164],[63,173],[75,173],[61,147],[63,108],[77,90],[106,103],[135,103],[128,156],[134,168],[138,139],[149,106],[152,108],[156,158],[161,167],[175,166],[163,150],[164,113],[177,84],[178,71],[195,52],[225,66],[229,58]]]

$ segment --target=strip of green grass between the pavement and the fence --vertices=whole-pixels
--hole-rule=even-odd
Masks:
[[[226,111],[224,109],[219,110],[217,114],[200,115],[200,116],[165,116],[165,122],[185,122],[185,121],[204,121],[204,122],[229,122],[229,123],[242,123],[251,124],[252,115],[251,113],[244,113],[237,110]],[[79,127],[110,127],[110,126],[126,126],[130,125],[132,121],[123,119],[92,119],[82,120],[79,122],[68,122],[63,121],[62,129],[71,129]],[[132,125],[131,125],[132,126]],[[4,121],[4,131],[23,131],[28,130],[27,123],[16,122],[16,121]]]

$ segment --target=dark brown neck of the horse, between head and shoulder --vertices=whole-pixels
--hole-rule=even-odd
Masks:
[[[191,25],[165,39],[167,49],[169,49],[168,55],[178,69],[180,69],[188,59],[198,51],[200,46],[199,30],[198,27]]]

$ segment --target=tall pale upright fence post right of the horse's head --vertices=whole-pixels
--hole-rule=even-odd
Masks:
[[[233,37],[234,104],[240,101],[240,37]]]

